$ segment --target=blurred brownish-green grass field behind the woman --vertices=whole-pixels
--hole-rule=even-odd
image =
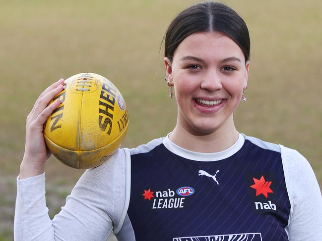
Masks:
[[[192,0],[2,0],[0,3],[0,241],[13,239],[15,178],[25,119],[52,82],[80,72],[113,81],[129,108],[124,146],[166,135],[176,103],[164,83],[163,34]],[[322,185],[322,1],[226,0],[248,24],[251,70],[237,129],[300,151]],[[53,217],[82,171],[46,166]]]

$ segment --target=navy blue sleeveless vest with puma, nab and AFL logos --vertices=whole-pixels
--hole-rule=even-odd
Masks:
[[[290,201],[280,148],[240,139],[238,150],[213,161],[178,155],[164,140],[131,154],[127,214],[135,240],[287,241]]]

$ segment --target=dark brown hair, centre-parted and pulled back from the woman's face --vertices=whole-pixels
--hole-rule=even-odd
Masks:
[[[245,62],[250,59],[250,36],[244,20],[227,5],[206,1],[194,4],[179,13],[165,35],[164,56],[170,61],[179,44],[197,32],[221,32],[243,51]]]

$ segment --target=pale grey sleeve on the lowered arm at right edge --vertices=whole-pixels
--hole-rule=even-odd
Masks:
[[[285,168],[291,201],[286,230],[290,241],[322,240],[322,195],[309,162],[299,152],[285,148]]]

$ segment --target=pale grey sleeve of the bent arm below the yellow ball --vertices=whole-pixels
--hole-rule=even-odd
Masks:
[[[119,150],[123,152],[123,150]],[[121,153],[122,155],[122,153]],[[124,192],[123,192],[124,190]],[[88,169],[53,220],[45,199],[45,173],[17,180],[15,241],[105,241],[124,208],[125,159],[119,153],[99,167]]]

